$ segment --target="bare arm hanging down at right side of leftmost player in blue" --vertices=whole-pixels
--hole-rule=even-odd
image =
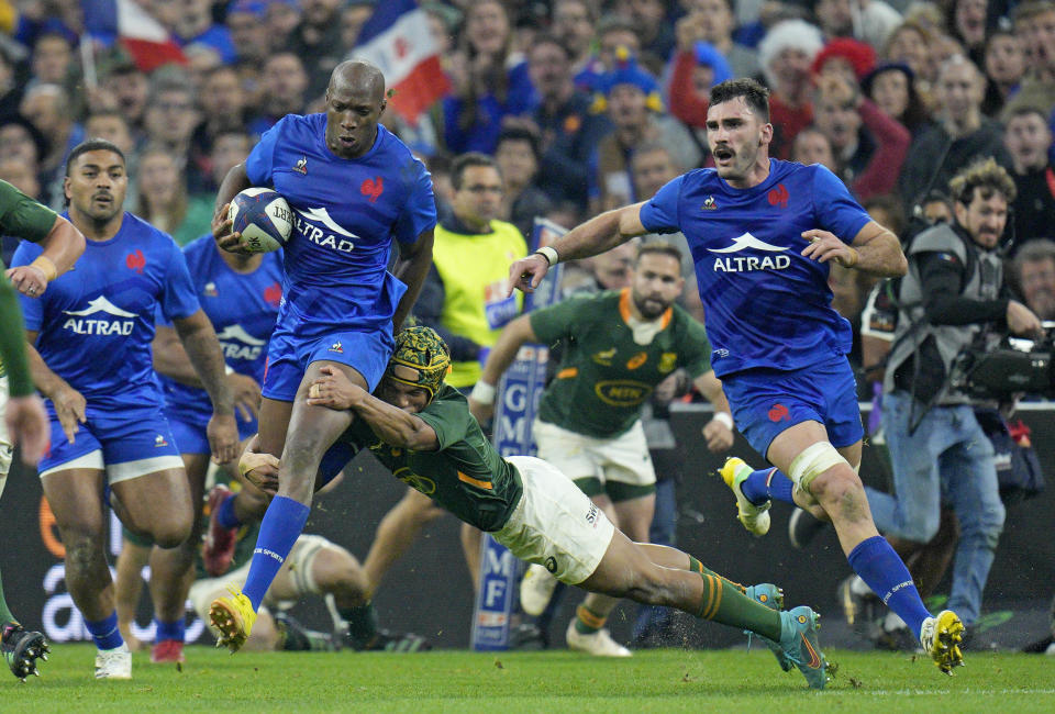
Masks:
[[[234,398],[225,379],[226,364],[216,332],[201,308],[187,317],[174,320],[173,325],[212,402],[212,419],[207,427],[212,457],[218,464],[233,461],[238,457],[238,427],[234,422]]]

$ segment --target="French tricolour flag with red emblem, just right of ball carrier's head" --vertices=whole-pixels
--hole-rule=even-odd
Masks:
[[[395,90],[388,105],[412,124],[451,88],[429,33],[429,18],[414,0],[379,2],[359,31],[352,56],[380,68]]]

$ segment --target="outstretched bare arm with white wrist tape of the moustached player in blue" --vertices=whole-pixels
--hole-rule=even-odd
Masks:
[[[648,231],[641,223],[642,203],[606,211],[554,241],[547,247],[521,258],[509,268],[509,292],[514,288],[532,292],[557,263],[589,258],[610,250]]]

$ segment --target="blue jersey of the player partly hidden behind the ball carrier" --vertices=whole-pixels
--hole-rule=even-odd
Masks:
[[[282,299],[282,253],[264,254],[249,274],[235,272],[224,263],[211,235],[184,247],[195,292],[220,339],[223,358],[240,375],[264,383],[267,341]],[[170,324],[158,315],[158,324]],[[203,389],[158,375],[169,413],[191,423],[207,423],[212,402]]]

